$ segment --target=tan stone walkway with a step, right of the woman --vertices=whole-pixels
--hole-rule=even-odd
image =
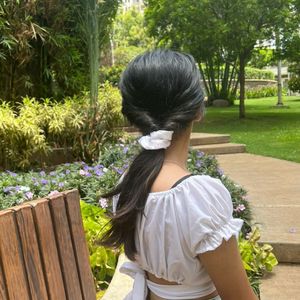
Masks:
[[[217,159],[248,191],[261,241],[272,244],[281,262],[263,281],[261,299],[300,300],[300,164],[248,153]]]

